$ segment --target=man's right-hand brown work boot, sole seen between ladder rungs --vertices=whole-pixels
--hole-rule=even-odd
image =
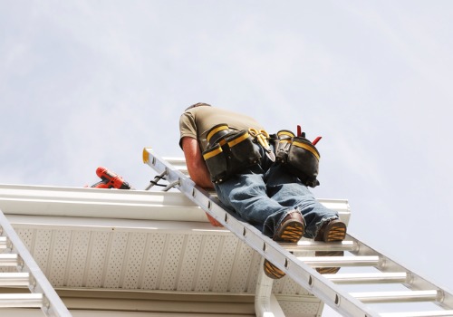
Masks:
[[[346,237],[346,225],[340,219],[333,219],[323,226],[314,237],[314,241],[334,242],[342,241]],[[342,251],[316,251],[315,256],[343,256]],[[320,274],[336,274],[340,267],[317,267]]]

